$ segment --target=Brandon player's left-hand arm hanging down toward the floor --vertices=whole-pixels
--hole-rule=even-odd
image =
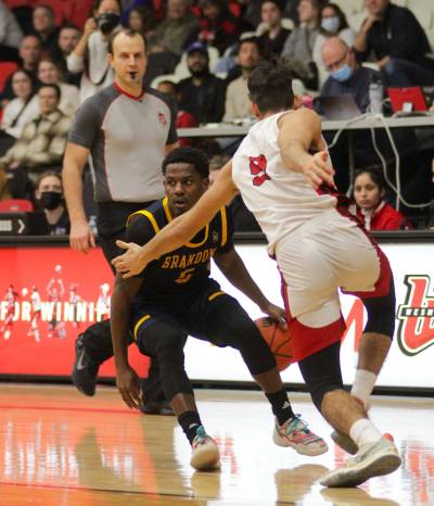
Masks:
[[[137,409],[140,402],[140,380],[128,364],[127,336],[131,302],[142,282],[142,278],[123,279],[119,275],[116,276],[110,321],[116,366],[116,385],[125,404]]]

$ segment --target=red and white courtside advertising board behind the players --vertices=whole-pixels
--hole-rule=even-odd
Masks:
[[[429,243],[382,244],[395,277],[397,312],[393,346],[378,384],[434,388],[434,264]],[[282,304],[280,275],[263,244],[237,245],[265,294]],[[69,376],[74,341],[79,332],[110,315],[113,275],[100,250],[88,255],[68,248],[33,246],[0,250],[0,374]],[[252,318],[263,314],[231,287],[212,265],[212,276],[234,295]],[[341,295],[347,331],[342,344],[344,381],[353,381],[358,340],[365,325],[362,303]],[[146,357],[136,346],[130,359],[140,375]],[[189,338],[186,367],[193,380],[252,381],[238,352]],[[100,369],[114,376],[113,360]],[[286,382],[302,382],[296,365],[283,371]]]

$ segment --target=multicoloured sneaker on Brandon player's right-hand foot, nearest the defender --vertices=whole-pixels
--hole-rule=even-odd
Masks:
[[[276,420],[272,441],[278,446],[291,446],[301,455],[322,455],[329,450],[326,441],[314,434],[299,415],[290,418],[281,426]]]

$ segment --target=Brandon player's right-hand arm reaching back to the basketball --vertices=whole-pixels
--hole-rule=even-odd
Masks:
[[[244,293],[252,302],[257,304],[265,314],[276,319],[279,326],[286,330],[285,312],[281,307],[272,304],[256,284],[244,262],[237,251],[232,248],[228,252],[217,253],[214,256],[217,267],[225,277],[241,292]]]

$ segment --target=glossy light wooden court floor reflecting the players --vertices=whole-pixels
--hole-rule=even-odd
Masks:
[[[0,505],[434,505],[432,399],[374,397],[371,418],[394,434],[401,468],[358,489],[326,490],[318,479],[345,455],[306,395],[293,394],[293,405],[330,444],[319,457],[273,445],[259,392],[196,396],[220,471],[191,469],[176,419],[130,412],[115,389],[86,397],[72,387],[0,383]]]

